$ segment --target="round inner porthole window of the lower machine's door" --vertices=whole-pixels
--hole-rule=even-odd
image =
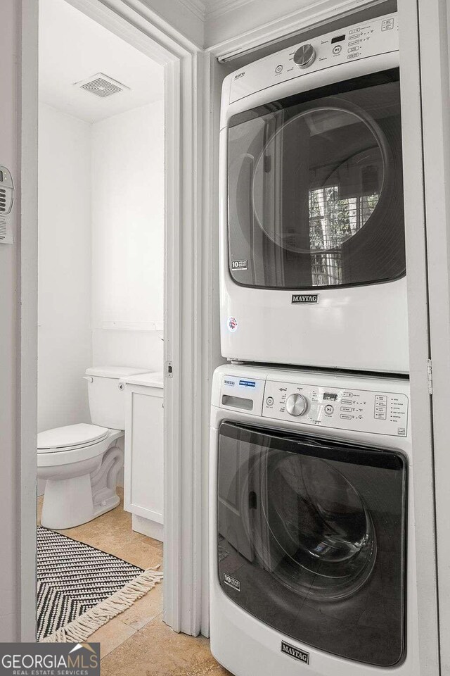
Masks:
[[[375,565],[377,539],[361,495],[326,460],[268,450],[249,474],[259,484],[262,527],[252,529],[255,554],[266,570],[310,600],[347,599],[358,592]],[[255,492],[256,494],[256,492]]]

